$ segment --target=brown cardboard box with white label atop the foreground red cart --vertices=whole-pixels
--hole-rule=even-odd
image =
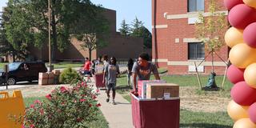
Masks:
[[[179,86],[174,83],[148,83],[146,98],[174,98],[179,96]]]

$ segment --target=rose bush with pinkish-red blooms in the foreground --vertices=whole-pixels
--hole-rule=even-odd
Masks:
[[[58,87],[46,95],[47,101],[34,101],[26,108],[23,127],[76,128],[87,127],[96,120],[97,92],[86,82],[76,82],[71,88]]]

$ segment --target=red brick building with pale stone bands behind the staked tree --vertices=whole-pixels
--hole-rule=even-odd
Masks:
[[[222,6],[219,11],[227,15],[223,0],[217,2]],[[205,46],[195,38],[194,23],[198,11],[209,15],[208,4],[205,0],[152,0],[153,61],[168,67],[169,74],[194,74],[194,62],[198,65],[207,56]],[[228,47],[223,46],[217,54],[226,61]],[[214,72],[224,74],[225,68],[225,62],[214,54]],[[198,66],[198,72],[210,74],[210,56]]]

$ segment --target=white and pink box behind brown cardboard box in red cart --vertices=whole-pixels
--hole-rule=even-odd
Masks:
[[[166,83],[165,80],[143,80],[138,81],[138,96],[146,98],[147,83]]]

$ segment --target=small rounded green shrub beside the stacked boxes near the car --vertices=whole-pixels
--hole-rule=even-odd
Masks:
[[[81,80],[82,78],[80,78],[79,74],[75,70],[72,70],[71,67],[63,70],[59,76],[59,82],[64,84],[72,83],[75,79]]]

